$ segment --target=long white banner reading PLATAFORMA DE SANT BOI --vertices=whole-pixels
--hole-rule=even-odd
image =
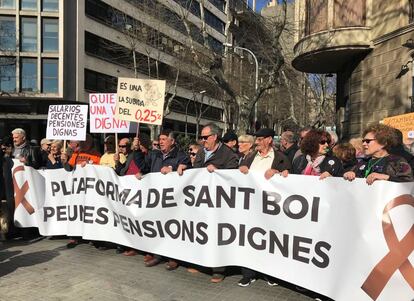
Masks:
[[[42,235],[244,266],[340,301],[414,296],[414,183],[296,175],[267,181],[255,172],[204,169],[137,180],[92,165],[74,172],[24,167],[13,175],[21,189],[15,221]]]

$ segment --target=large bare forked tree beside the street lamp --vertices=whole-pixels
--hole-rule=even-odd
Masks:
[[[182,5],[180,10],[181,20],[185,25],[187,36],[189,38],[190,50],[194,63],[198,66],[201,74],[208,81],[212,81],[224,91],[229,102],[238,112],[238,120],[235,126],[239,133],[245,133],[251,125],[252,112],[257,101],[264,93],[278,84],[281,76],[281,68],[284,65],[284,57],[280,45],[280,36],[286,25],[286,1],[282,1],[283,18],[265,20],[252,11],[246,10],[241,6],[241,2],[226,1],[225,13],[228,16],[226,23],[225,35],[230,41],[231,25],[235,20],[236,10],[243,9],[243,14],[239,14],[239,28],[231,32],[238,41],[238,45],[251,49],[261,61],[260,82],[255,89],[254,80],[250,80],[249,75],[254,74],[252,67],[249,66],[239,54],[233,54],[226,49],[225,55],[213,51],[208,37],[208,29],[205,25],[204,1],[200,0],[200,18],[201,24],[194,26],[189,16],[189,7],[193,1],[187,1],[187,5]],[[241,24],[246,24],[241,25]],[[234,26],[232,26],[234,28]],[[203,49],[200,50],[199,42],[194,38],[194,30],[198,30],[202,36]],[[236,57],[235,57],[236,56]],[[235,70],[244,68],[247,72],[240,76],[240,72]]]

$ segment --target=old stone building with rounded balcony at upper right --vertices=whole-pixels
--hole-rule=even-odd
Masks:
[[[336,73],[337,130],[360,136],[367,124],[412,112],[413,1],[298,0],[292,65]]]

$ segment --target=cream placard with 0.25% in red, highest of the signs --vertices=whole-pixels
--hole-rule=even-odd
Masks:
[[[165,80],[118,78],[116,118],[162,124]]]

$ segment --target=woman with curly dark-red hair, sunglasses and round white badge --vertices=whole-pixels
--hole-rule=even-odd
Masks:
[[[303,138],[302,155],[293,160],[292,173],[308,176],[342,177],[344,170],[341,160],[329,154],[331,136],[322,130],[310,130]]]

